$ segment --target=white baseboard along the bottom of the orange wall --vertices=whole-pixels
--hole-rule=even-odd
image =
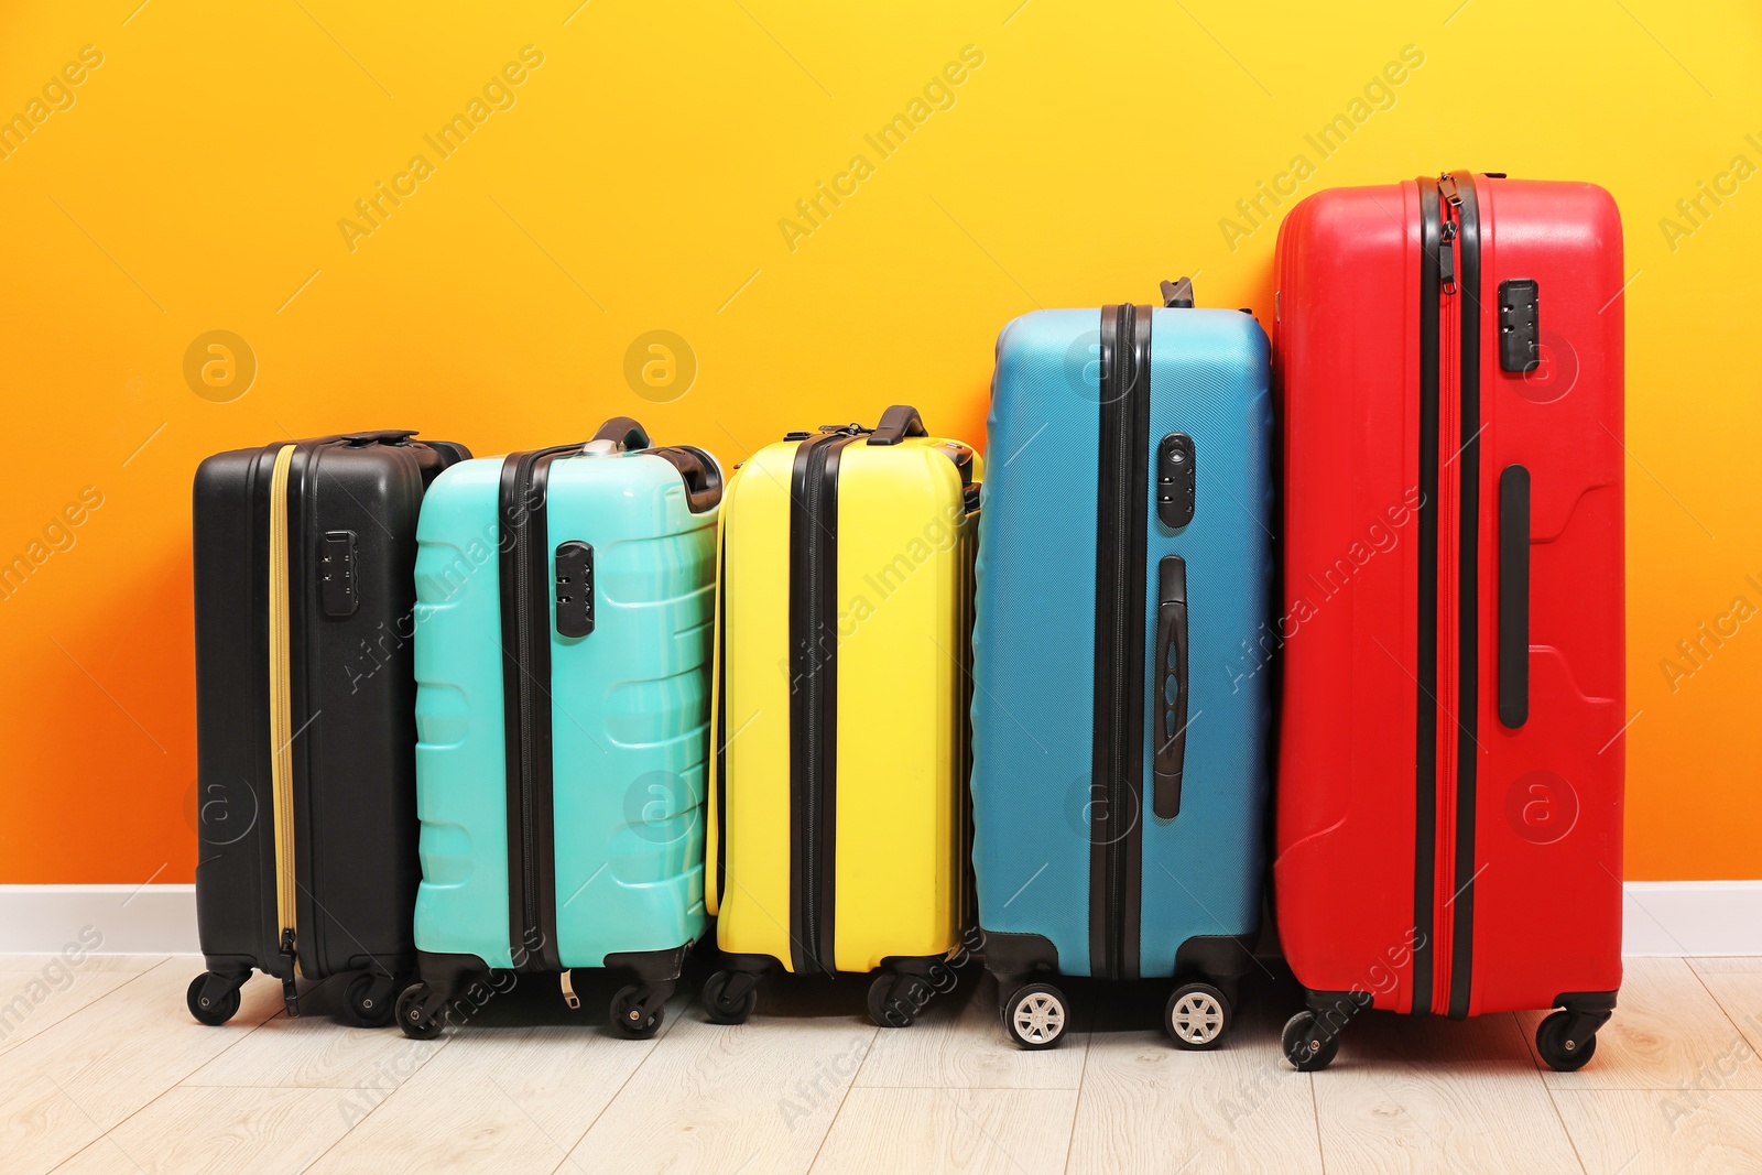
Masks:
[[[1625,955],[1762,955],[1762,881],[1630,881],[1621,923]],[[197,953],[196,886],[0,886],[0,955],[55,953],[86,927],[99,955]]]

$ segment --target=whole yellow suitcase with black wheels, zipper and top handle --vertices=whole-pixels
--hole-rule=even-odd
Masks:
[[[980,458],[916,409],[789,433],[735,474],[722,514],[710,911],[758,981],[870,972],[904,1027],[951,976],[967,911],[967,634]]]

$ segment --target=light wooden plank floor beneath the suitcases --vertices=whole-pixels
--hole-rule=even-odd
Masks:
[[[1156,1029],[1165,985],[1071,983],[1062,1048],[1004,1041],[988,978],[877,1031],[863,979],[772,979],[749,1025],[682,995],[652,1041],[523,979],[435,1041],[289,1020],[245,987],[194,1024],[192,958],[0,958],[0,1170],[23,1171],[1762,1171],[1762,958],[1635,958],[1582,1073],[1536,1015],[1362,1016],[1292,1071],[1295,992],[1260,978],[1210,1053]],[[978,971],[973,967],[973,971]],[[694,981],[691,983],[694,988]]]

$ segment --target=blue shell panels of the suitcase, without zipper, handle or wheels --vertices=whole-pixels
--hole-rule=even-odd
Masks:
[[[973,823],[987,964],[1085,976],[1091,967],[1091,803],[1096,675],[1099,386],[1096,310],[1041,310],[1004,328],[987,423],[973,696]],[[1196,504],[1179,528],[1147,514],[1149,622],[1138,974],[1172,976],[1182,948],[1260,925],[1272,673],[1272,403],[1251,315],[1156,308],[1154,449],[1195,442]],[[1181,810],[1151,810],[1158,562],[1186,558],[1189,717]],[[1022,935],[1043,941],[1004,955]],[[1047,957],[1050,946],[1054,957]],[[1240,971],[1246,944],[1223,951]],[[996,962],[994,962],[996,957]],[[1008,960],[1008,962],[1006,962]],[[1216,965],[1216,960],[1212,960]],[[1010,976],[1025,978],[1025,976]],[[1008,995],[1008,992],[1001,992]]]

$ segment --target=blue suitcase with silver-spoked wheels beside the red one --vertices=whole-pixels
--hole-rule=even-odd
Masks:
[[[1173,976],[1209,1048],[1253,965],[1272,675],[1272,402],[1249,314],[1040,310],[997,340],[974,624],[985,965],[1025,1048],[1059,974]]]

